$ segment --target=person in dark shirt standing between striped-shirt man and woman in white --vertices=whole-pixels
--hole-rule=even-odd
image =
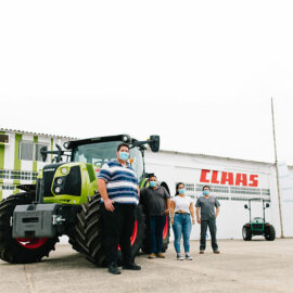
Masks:
[[[157,186],[156,176],[149,178],[150,186],[143,188],[140,193],[140,201],[146,207],[150,218],[150,246],[149,258],[165,258],[162,253],[163,231],[166,222],[166,215],[170,208],[170,195],[164,187]]]

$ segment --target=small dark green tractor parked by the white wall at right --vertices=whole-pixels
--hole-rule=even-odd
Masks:
[[[250,211],[250,222],[246,222],[242,228],[242,237],[244,241],[252,240],[252,237],[254,235],[264,235],[266,240],[273,241],[276,238],[276,231],[272,225],[269,222],[266,222],[265,217],[265,209],[269,207],[269,203],[266,203],[266,201],[260,200],[263,204],[263,218],[262,217],[255,217],[252,219],[252,213],[251,213],[251,202],[253,200],[249,200],[249,205],[245,204],[244,208],[247,208]]]

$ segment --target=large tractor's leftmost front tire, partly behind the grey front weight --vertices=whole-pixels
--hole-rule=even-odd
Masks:
[[[16,205],[29,204],[34,201],[34,192],[10,195],[0,203],[0,258],[12,264],[39,262],[54,250],[58,238],[26,239],[25,242],[12,238],[10,225]],[[34,244],[33,244],[34,243]]]

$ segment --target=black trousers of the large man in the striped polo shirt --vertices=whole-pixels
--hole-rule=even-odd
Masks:
[[[101,205],[107,263],[117,264],[118,245],[120,245],[124,265],[128,265],[133,262],[130,237],[133,232],[137,206],[117,203],[113,205],[115,208],[113,212],[106,211],[104,205]]]

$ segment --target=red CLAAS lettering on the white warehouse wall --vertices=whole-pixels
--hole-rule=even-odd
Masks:
[[[257,187],[258,175],[202,169],[200,181],[202,183],[222,184],[222,186],[228,184],[242,187]]]

